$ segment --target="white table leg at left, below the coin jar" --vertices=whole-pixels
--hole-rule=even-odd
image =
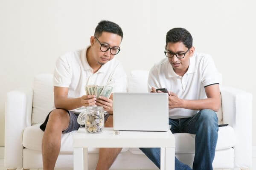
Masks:
[[[73,165],[74,170],[88,170],[88,149],[74,148]]]

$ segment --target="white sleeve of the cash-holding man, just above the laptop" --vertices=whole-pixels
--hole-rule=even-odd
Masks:
[[[107,84],[113,87],[112,93],[127,92],[127,75],[120,63],[113,70],[111,79]]]

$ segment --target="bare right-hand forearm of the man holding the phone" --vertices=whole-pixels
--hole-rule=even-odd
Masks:
[[[220,99],[208,98],[200,100],[186,100],[181,99],[180,108],[192,109],[201,111],[203,109],[212,109],[215,112],[218,112],[220,108]]]

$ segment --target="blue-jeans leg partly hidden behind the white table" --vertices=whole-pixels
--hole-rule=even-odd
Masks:
[[[180,125],[178,120],[169,119],[169,125],[172,125],[171,131],[172,133],[180,133]],[[150,147],[144,147],[140,148],[140,150],[145,153],[145,155],[160,169],[160,148],[150,148]],[[179,161],[175,156],[175,170],[191,170],[191,168],[183,164],[181,161]]]

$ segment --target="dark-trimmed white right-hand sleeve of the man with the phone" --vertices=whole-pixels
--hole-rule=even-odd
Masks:
[[[220,77],[211,56],[205,56],[202,65],[202,84],[204,87],[220,84]]]

